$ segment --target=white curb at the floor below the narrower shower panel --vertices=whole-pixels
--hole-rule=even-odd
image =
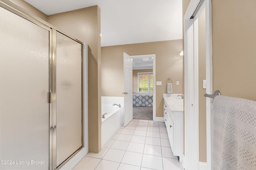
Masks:
[[[86,148],[82,148],[76,155],[74,155],[66,164],[64,164],[60,170],[72,170],[76,164],[87,154]]]

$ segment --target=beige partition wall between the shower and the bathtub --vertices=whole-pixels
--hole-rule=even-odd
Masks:
[[[98,6],[48,16],[48,22],[88,43],[89,151],[101,150],[100,9]]]

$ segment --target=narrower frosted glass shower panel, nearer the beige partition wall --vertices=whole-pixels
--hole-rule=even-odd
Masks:
[[[82,44],[56,35],[56,162],[82,146]]]

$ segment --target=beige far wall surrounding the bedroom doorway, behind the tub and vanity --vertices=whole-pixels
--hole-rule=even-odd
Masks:
[[[166,93],[166,80],[172,78],[173,92],[182,93],[182,62],[179,55],[182,40],[116,45],[101,48],[102,96],[123,96],[123,52],[128,55],[156,54],[156,117],[163,117],[163,93]],[[180,81],[180,85],[176,85]]]

